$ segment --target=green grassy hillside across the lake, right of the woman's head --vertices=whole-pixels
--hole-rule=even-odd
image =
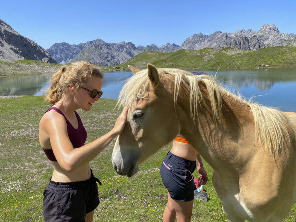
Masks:
[[[204,48],[201,50],[179,50],[172,53],[144,52],[117,66],[127,65],[137,68],[152,63],[157,67],[217,70],[234,68],[288,68],[296,67],[296,47],[279,46],[258,51],[222,48],[219,50]]]

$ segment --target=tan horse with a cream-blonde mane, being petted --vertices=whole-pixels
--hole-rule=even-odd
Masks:
[[[118,174],[183,135],[213,168],[228,221],[283,221],[296,202],[296,113],[247,102],[208,75],[148,69],[124,85],[128,122],[112,154]]]

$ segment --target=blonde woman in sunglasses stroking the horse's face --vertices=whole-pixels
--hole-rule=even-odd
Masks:
[[[125,107],[111,131],[84,144],[87,133],[76,110],[89,111],[98,101],[102,78],[94,65],[76,62],[53,74],[51,88],[45,91],[45,100],[52,106],[40,120],[39,141],[53,166],[44,190],[45,222],[90,222],[99,205],[98,179],[89,162],[121,133],[127,119]]]

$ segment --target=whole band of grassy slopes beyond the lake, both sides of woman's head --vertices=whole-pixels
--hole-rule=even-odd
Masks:
[[[86,56],[87,57],[87,56]],[[85,58],[86,58],[85,57]],[[143,52],[116,66],[98,66],[103,72],[128,70],[127,65],[146,68],[152,63],[161,68],[181,68],[188,70],[217,70],[239,68],[294,68],[296,67],[296,47],[278,46],[258,51],[235,48],[204,48],[201,50],[179,50],[172,53]],[[0,61],[0,77],[52,74],[61,64],[30,60],[15,62]]]

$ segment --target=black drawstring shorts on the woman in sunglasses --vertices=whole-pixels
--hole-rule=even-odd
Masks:
[[[99,205],[99,180],[92,172],[86,181],[62,183],[50,179],[43,193],[45,222],[85,222],[85,215]]]

